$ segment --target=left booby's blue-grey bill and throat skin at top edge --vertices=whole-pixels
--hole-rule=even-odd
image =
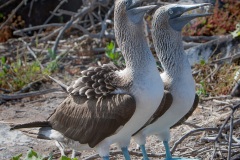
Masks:
[[[148,11],[156,8],[156,5],[141,6],[142,0],[135,0],[135,2],[127,7],[127,14],[133,23],[140,23],[143,20],[143,16]]]

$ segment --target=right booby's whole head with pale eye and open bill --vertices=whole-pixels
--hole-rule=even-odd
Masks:
[[[194,9],[204,9],[207,13],[189,12]],[[171,27],[175,31],[181,31],[182,28],[190,22],[192,19],[197,17],[204,17],[212,15],[212,4],[202,3],[202,4],[192,4],[192,5],[180,5],[180,4],[170,4],[157,9],[154,13],[153,21],[155,25],[161,24],[162,27]],[[184,14],[189,12],[189,14]],[[209,13],[210,12],[210,13]],[[161,26],[158,26],[161,27]]]

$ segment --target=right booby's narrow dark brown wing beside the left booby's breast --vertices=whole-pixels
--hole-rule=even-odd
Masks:
[[[151,116],[151,118],[145,123],[143,127],[141,127],[136,133],[141,131],[143,128],[148,126],[149,124],[154,123],[159,117],[161,117],[172,105],[173,97],[172,94],[169,91],[164,90],[163,98],[161,101],[161,104],[159,105],[158,109],[155,111],[155,113]]]

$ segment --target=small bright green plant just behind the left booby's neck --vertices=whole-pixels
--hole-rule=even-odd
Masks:
[[[119,65],[122,55],[120,52],[116,52],[115,43],[113,41],[107,44],[105,51],[106,56],[113,61],[114,64]]]

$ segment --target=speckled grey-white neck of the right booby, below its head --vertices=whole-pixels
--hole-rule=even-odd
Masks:
[[[191,70],[180,32],[172,34],[171,31],[153,29],[153,43],[159,61],[168,76],[174,77]]]

